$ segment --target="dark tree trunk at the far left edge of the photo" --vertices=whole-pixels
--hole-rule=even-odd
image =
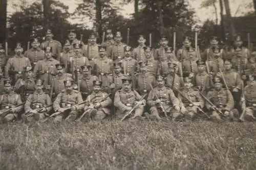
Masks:
[[[0,43],[7,40],[7,0],[0,0]]]

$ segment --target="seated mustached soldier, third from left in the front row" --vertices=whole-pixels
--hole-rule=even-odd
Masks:
[[[81,103],[82,95],[79,91],[74,90],[74,82],[72,80],[65,80],[65,90],[62,90],[56,100],[53,102],[53,109],[55,112],[60,112],[55,118],[54,122],[61,122],[63,118],[74,121],[84,105],[76,105]],[[71,110],[67,110],[70,108]]]

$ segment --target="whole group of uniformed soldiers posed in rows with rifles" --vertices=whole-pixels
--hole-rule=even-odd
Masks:
[[[62,48],[47,30],[45,41],[34,38],[25,53],[17,43],[14,56],[0,45],[2,123],[108,117],[255,120],[256,54],[240,36],[229,51],[213,37],[202,52],[197,34],[195,47],[185,37],[177,51],[175,33],[173,47],[162,36],[155,49],[145,45],[143,35],[132,49],[111,30],[100,45],[95,34],[88,44],[74,30],[68,37]]]

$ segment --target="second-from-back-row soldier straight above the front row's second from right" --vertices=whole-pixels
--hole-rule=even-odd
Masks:
[[[225,70],[224,61],[221,58],[221,51],[218,45],[212,47],[212,56],[210,61],[206,61],[208,64],[208,68],[210,72],[212,72],[213,75],[216,75],[220,69],[222,71]],[[209,72],[208,72],[209,73]]]

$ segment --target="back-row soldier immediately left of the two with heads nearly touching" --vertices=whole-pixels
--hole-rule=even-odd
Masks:
[[[88,44],[84,45],[85,54],[90,61],[90,65],[93,66],[93,61],[99,58],[99,45],[96,43],[96,36],[95,34],[91,34]]]

